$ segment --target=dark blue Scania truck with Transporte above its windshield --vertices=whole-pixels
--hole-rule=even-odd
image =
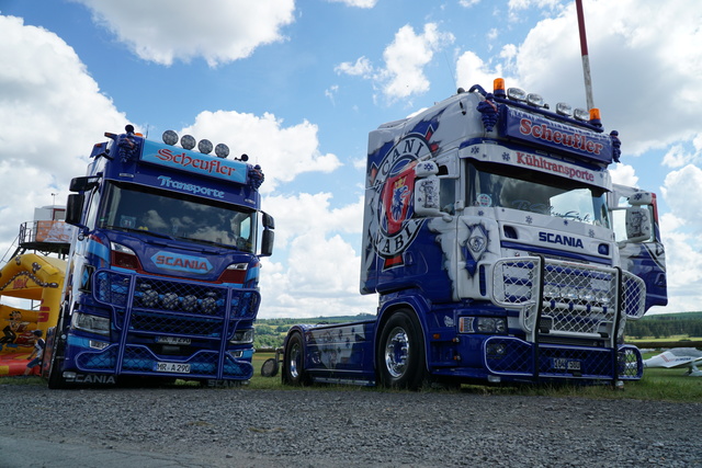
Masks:
[[[168,130],[105,133],[71,181],[71,240],[43,375],[49,388],[176,378],[227,386],[252,373],[260,256],[273,218],[261,168]]]

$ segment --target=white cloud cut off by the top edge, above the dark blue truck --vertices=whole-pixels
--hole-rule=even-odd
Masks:
[[[211,67],[284,39],[294,0],[73,0],[144,60],[171,65],[203,57]]]

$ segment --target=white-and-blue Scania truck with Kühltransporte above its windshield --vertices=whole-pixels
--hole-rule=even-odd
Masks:
[[[599,111],[474,85],[371,132],[361,293],[375,318],[298,324],[282,379],[638,379],[626,320],[667,304],[655,194],[613,184]]]

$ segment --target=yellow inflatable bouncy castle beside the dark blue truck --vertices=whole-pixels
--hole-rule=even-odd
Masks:
[[[38,309],[21,309],[0,304],[0,376],[22,375],[34,343],[46,338],[56,326],[60,307],[66,262],[24,253],[10,260],[0,271],[2,296],[39,301]],[[31,369],[38,374],[38,367]]]

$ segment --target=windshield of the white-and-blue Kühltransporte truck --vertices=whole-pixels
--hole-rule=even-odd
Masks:
[[[503,207],[610,227],[603,189],[495,163],[467,164],[469,206]]]

